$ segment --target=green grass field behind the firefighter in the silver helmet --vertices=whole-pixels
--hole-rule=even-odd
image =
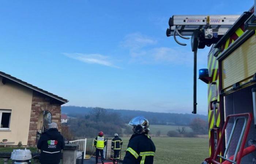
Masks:
[[[121,159],[129,138],[122,139]],[[156,147],[154,164],[200,164],[209,154],[207,138],[152,137],[152,140]]]

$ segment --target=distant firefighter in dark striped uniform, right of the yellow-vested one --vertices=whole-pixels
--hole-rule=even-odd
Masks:
[[[123,145],[123,141],[118,137],[118,134],[115,133],[111,145],[111,149],[114,151],[113,163],[117,162],[118,164],[120,160],[121,145]]]

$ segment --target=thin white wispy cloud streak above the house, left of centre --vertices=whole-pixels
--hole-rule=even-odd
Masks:
[[[104,56],[101,54],[80,54],[80,53],[63,53],[65,56],[79,60],[84,63],[89,63],[89,64],[98,64],[98,65],[103,65],[103,66],[108,66],[108,67],[114,67],[114,68],[121,68],[118,66],[115,66],[110,60],[108,56]]]

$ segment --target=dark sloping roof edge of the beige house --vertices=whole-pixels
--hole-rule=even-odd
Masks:
[[[59,100],[59,101],[63,102],[63,104],[65,104],[65,103],[68,102],[67,99],[64,99],[64,98],[62,98],[62,97],[59,97],[58,95],[55,95],[55,94],[53,94],[53,93],[50,93],[50,92],[48,92],[48,91],[46,91],[46,90],[40,89],[40,88],[38,88],[38,87],[36,87],[36,86],[33,86],[33,85],[31,85],[31,84],[29,84],[29,83],[27,83],[27,82],[25,82],[25,81],[22,81],[22,80],[20,80],[20,79],[17,79],[17,78],[15,78],[15,77],[13,77],[13,76],[11,76],[11,75],[9,75],[9,74],[6,74],[6,73],[4,73],[4,72],[1,72],[1,71],[0,71],[0,76],[4,77],[4,78],[6,78],[6,79],[9,79],[9,80],[11,80],[11,81],[14,81],[14,82],[16,82],[16,83],[19,83],[19,84],[21,84],[21,85],[23,85],[23,86],[25,86],[25,87],[28,87],[28,88],[30,88],[30,89],[32,89],[32,90],[34,90],[34,91],[38,91],[39,93],[42,93],[42,94],[47,95],[47,96],[49,96],[49,97],[52,97],[52,98],[54,98],[54,99],[56,99],[56,100]]]

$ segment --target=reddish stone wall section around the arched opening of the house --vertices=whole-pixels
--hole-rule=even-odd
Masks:
[[[56,122],[58,124],[59,131],[61,130],[61,105],[54,101],[53,98],[37,91],[33,91],[29,137],[27,141],[27,145],[29,146],[35,146],[36,144],[38,117],[44,110],[48,110],[52,114],[52,122]]]

